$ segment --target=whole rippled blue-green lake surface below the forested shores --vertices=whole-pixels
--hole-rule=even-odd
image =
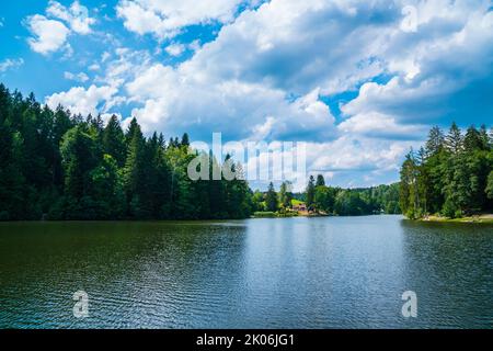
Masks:
[[[493,226],[0,224],[0,328],[493,328]]]

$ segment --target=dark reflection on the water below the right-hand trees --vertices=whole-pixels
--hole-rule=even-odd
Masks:
[[[405,285],[421,327],[493,327],[493,227],[403,220]]]

